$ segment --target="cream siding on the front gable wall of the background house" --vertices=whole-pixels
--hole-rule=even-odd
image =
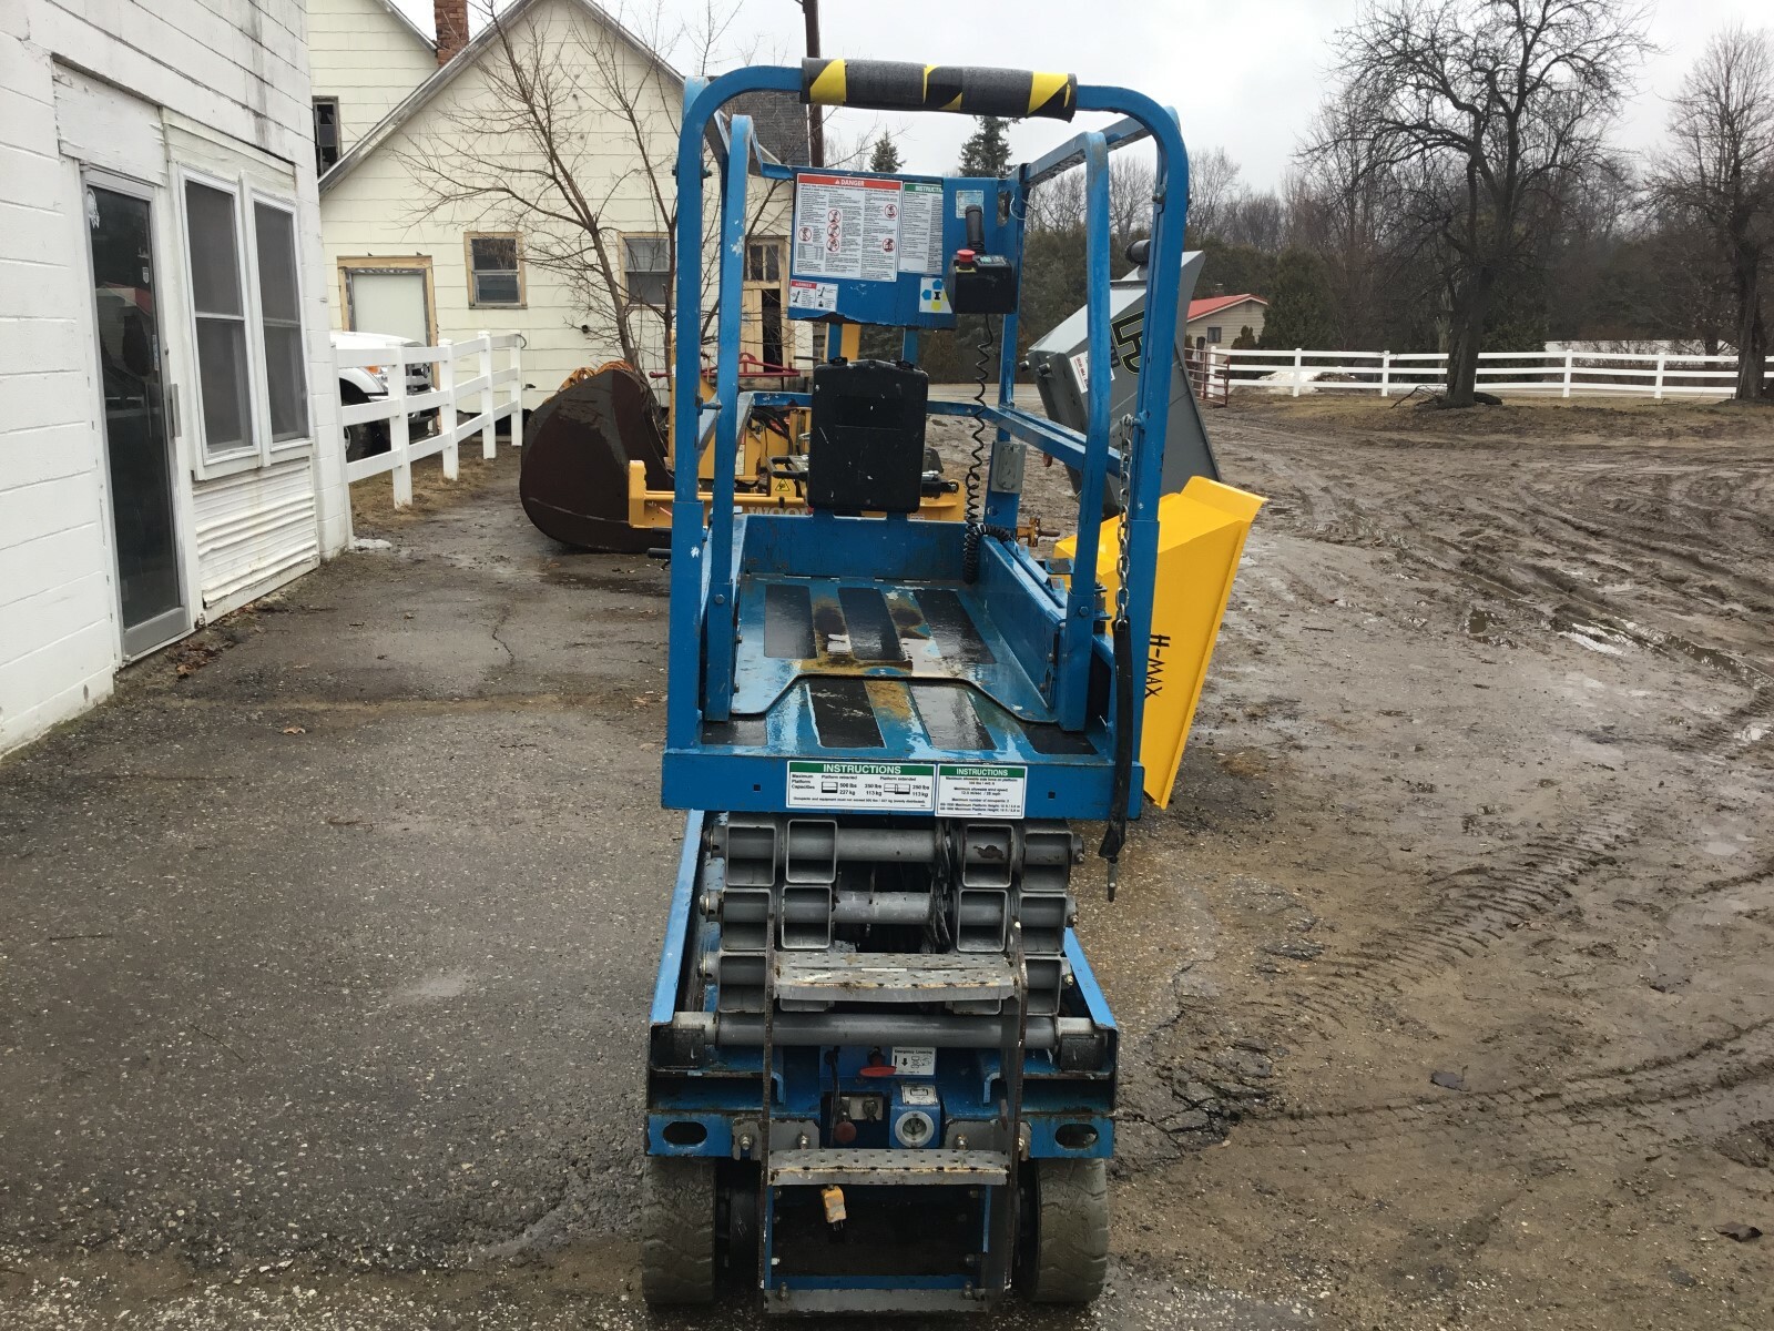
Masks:
[[[580,41],[612,41],[589,27],[593,20],[571,0],[555,0],[530,12],[527,23],[536,25],[543,41],[561,51],[571,51]],[[571,27],[569,27],[571,25]],[[578,28],[578,25],[587,25]],[[589,34],[575,35],[575,30]],[[518,41],[527,41],[520,25]],[[679,85],[656,73],[630,46],[612,44],[624,64],[623,78],[644,85],[653,108],[648,122],[653,128],[649,156],[665,172],[667,193],[674,192],[671,167],[678,153]],[[483,60],[497,60],[497,51]],[[429,256],[436,328],[440,337],[474,337],[481,328],[514,328],[525,337],[523,378],[534,387],[525,392],[525,406],[534,408],[561,387],[573,369],[596,366],[621,355],[608,312],[587,309],[575,298],[571,286],[536,263],[525,264],[525,309],[474,307],[468,303],[468,272],[463,254],[463,234],[468,231],[504,231],[498,218],[477,218],[468,208],[428,209],[424,186],[415,179],[412,154],[424,154],[451,142],[451,114],[461,108],[493,105],[488,78],[481,67],[465,69],[436,98],[420,108],[412,121],[383,140],[374,153],[348,176],[328,181],[321,195],[321,229],[334,284],[335,327],[344,327],[346,311],[341,295],[339,259],[413,257]],[[587,110],[584,122],[573,126],[571,140],[580,158],[575,177],[587,195],[605,197],[603,218],[624,232],[656,234],[663,231],[646,176],[637,169],[639,154],[626,126],[600,112]],[[514,158],[518,165],[522,158]],[[614,192],[612,192],[612,181]],[[747,193],[747,211],[757,215],[759,202],[770,183],[752,177]],[[711,190],[713,190],[711,183]],[[710,193],[710,215],[717,193]],[[788,236],[789,188],[777,185],[756,234]],[[525,229],[532,229],[530,222]],[[616,256],[617,263],[621,256]],[[589,325],[589,332],[580,332]],[[789,334],[811,346],[807,325],[795,323]],[[648,367],[660,367],[663,357],[663,330],[656,316],[640,314],[635,332],[648,348]]]

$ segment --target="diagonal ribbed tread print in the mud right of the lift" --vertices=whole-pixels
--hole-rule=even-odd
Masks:
[[[1341,1024],[1377,996],[1403,994],[1561,907],[1579,878],[1611,862],[1636,834],[1627,815],[1604,815],[1590,827],[1536,836],[1506,855],[1444,873],[1430,882],[1433,907],[1346,951],[1320,955],[1311,971],[1293,976],[1286,997],[1270,1003]]]

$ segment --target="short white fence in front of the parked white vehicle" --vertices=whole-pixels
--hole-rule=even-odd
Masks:
[[[506,364],[495,369],[495,360]],[[389,451],[348,461],[346,481],[394,472],[394,506],[413,502],[413,463],[444,454],[444,476],[458,476],[458,445],[481,437],[481,456],[497,454],[498,422],[511,422],[511,447],[523,447],[523,337],[520,334],[483,332],[465,343],[440,341],[436,346],[334,348],[339,369],[378,366],[387,373],[389,396],[373,403],[339,408],[341,433],[371,421],[389,422]],[[465,362],[474,362],[465,364]],[[433,366],[431,390],[408,392],[406,367]],[[472,373],[470,373],[472,371]],[[335,378],[337,382],[337,378]],[[474,408],[467,403],[477,399]],[[413,412],[436,408],[436,429],[413,438]],[[472,410],[472,413],[468,413]],[[341,442],[342,447],[342,442]]]

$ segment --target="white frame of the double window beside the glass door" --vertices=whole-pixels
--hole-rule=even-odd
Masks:
[[[302,231],[300,225],[294,227],[294,268],[296,268],[296,323],[302,339],[302,364],[303,364],[303,394],[309,399],[309,433],[300,438],[287,438],[280,444],[271,442],[271,385],[270,385],[270,367],[264,353],[264,309],[259,300],[259,229],[257,218],[254,217],[255,204],[268,204],[284,213],[289,213],[291,222],[300,220],[300,211],[296,201],[286,195],[273,193],[252,183],[245,170],[236,176],[216,176],[209,170],[200,170],[188,165],[174,165],[172,169],[174,192],[177,193],[176,211],[179,218],[177,250],[179,250],[179,277],[184,284],[184,335],[188,339],[192,364],[190,373],[183,378],[181,385],[181,403],[179,403],[179,428],[190,437],[192,442],[192,472],[200,479],[215,479],[220,476],[234,476],[238,472],[259,470],[270,467],[277,461],[284,461],[291,456],[300,456],[303,453],[312,453],[314,449],[314,385],[310,382],[314,366],[309,362],[309,327],[303,312],[303,284],[302,284]],[[197,286],[192,275],[192,220],[186,201],[186,186],[202,185],[220,193],[229,195],[234,204],[234,238],[236,238],[236,263],[238,279],[241,289],[241,311],[247,319],[247,412],[252,421],[252,438],[254,442],[247,447],[229,449],[227,453],[209,453],[209,440],[204,437],[204,387],[202,387],[202,362],[197,341]]]

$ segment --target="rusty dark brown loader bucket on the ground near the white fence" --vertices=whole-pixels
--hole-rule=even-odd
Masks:
[[[648,490],[671,490],[665,435],[648,382],[626,364],[568,382],[530,417],[518,495],[545,536],[585,550],[637,554],[662,541],[628,525],[628,467]]]

